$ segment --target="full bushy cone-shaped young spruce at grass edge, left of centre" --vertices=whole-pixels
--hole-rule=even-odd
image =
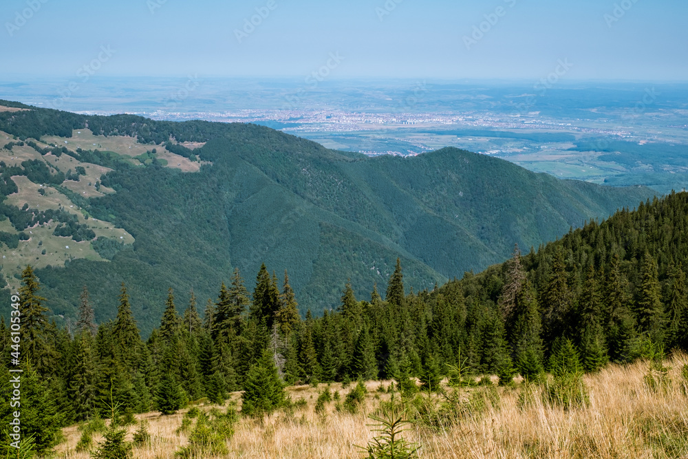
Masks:
[[[241,414],[246,416],[270,414],[284,403],[284,387],[267,350],[248,371],[241,399]]]

